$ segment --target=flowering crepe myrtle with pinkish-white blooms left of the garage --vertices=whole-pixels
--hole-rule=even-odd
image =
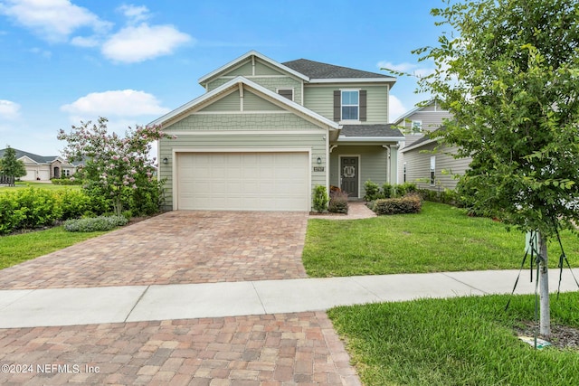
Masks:
[[[147,157],[151,143],[172,136],[163,133],[159,126],[137,126],[128,127],[125,137],[119,137],[117,133],[109,134],[108,121],[102,117],[95,125],[81,121],[81,126],[72,126],[70,134],[59,130],[58,139],[68,142],[62,155],[70,161],[85,161],[82,168],[88,182],[85,188],[98,186],[120,215],[125,194],[156,184],[156,159]]]

